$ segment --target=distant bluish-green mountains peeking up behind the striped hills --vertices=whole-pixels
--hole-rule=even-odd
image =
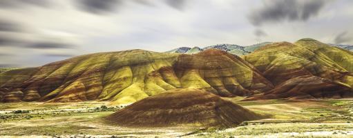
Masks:
[[[251,52],[254,52],[255,50],[257,50],[258,48],[261,48],[267,44],[270,44],[272,42],[263,42],[263,43],[257,43],[251,46],[239,46],[239,45],[234,45],[234,44],[218,44],[215,46],[206,46],[204,48],[199,48],[199,47],[193,47],[193,48],[189,48],[189,47],[180,47],[180,48],[175,48],[173,50],[169,50],[167,52],[169,53],[182,53],[182,54],[196,54],[198,52],[207,50],[207,49],[218,49],[218,50],[222,50],[225,52],[229,52],[233,55],[248,55]],[[353,46],[352,45],[340,45],[340,44],[331,44],[329,43],[330,46],[335,46],[338,48],[343,48],[345,50],[350,50],[353,51]]]

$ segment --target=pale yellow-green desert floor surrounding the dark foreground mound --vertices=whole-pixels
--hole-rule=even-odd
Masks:
[[[236,128],[125,128],[105,121],[122,106],[109,102],[0,103],[0,137],[353,137],[353,100],[240,101],[269,119]]]

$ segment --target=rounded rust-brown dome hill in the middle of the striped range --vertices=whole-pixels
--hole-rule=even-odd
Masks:
[[[249,96],[273,88],[254,66],[222,50],[180,55],[173,68],[183,88],[200,88],[222,97]]]

